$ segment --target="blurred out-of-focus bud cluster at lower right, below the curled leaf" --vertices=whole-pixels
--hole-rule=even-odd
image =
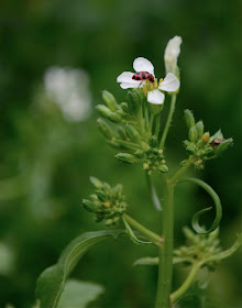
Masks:
[[[212,268],[218,262],[215,256],[221,252],[219,229],[209,234],[197,234],[188,227],[185,227],[183,231],[186,237],[186,246],[175,250],[174,256],[188,264],[202,261]]]

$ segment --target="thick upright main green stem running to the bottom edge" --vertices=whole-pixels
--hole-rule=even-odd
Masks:
[[[166,184],[163,207],[164,244],[160,250],[158,284],[155,308],[168,308],[173,277],[173,239],[174,239],[174,187]]]

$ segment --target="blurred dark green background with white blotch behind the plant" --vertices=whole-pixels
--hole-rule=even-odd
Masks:
[[[164,77],[164,50],[175,35],[183,37],[182,89],[166,157],[172,170],[186,157],[186,108],[204,120],[206,130],[221,128],[234,139],[223,157],[197,172],[221,197],[222,246],[232,244],[241,229],[239,18],[239,1],[1,2],[0,307],[31,307],[37,276],[65,245],[81,232],[103,229],[80,206],[91,193],[90,175],[122,183],[130,213],[158,229],[141,166],[113,158],[116,152],[96,128],[94,107],[103,89],[120,102],[125,99],[116,78],[132,70],[138,56],[152,61]],[[184,240],[182,227],[208,202],[194,186],[177,188],[176,245]],[[108,241],[82,258],[74,276],[105,285],[106,294],[91,307],[152,307],[156,268],[132,264],[155,254],[155,248],[135,246],[128,239]],[[241,307],[240,258],[237,253],[211,275],[207,295],[213,304],[206,307]],[[174,286],[183,277],[176,270]]]

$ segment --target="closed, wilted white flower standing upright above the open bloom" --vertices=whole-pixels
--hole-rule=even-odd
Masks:
[[[177,58],[180,53],[180,44],[183,43],[183,40],[180,36],[175,36],[172,40],[169,40],[166,48],[165,48],[165,67],[166,73],[174,73],[176,74],[177,68]]]

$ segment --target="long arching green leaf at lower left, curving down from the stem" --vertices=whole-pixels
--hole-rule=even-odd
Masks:
[[[41,308],[57,307],[67,277],[89,248],[110,237],[118,238],[122,233],[125,231],[87,232],[72,241],[58,262],[46,268],[37,279],[35,296],[41,300]]]

